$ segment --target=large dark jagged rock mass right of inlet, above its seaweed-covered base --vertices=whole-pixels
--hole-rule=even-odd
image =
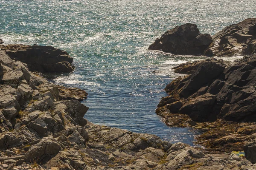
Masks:
[[[254,119],[255,58],[256,54],[245,57],[233,66],[209,59],[192,64],[195,69],[192,74],[175,79],[166,86],[165,90],[171,96],[163,98],[158,107],[167,108],[170,113],[187,114],[195,121]],[[187,100],[180,99],[183,97]],[[178,112],[177,109],[170,110],[175,101],[183,103]],[[160,114],[161,109],[157,109],[157,112]]]

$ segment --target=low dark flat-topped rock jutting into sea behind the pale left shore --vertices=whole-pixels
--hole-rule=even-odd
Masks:
[[[74,71],[73,58],[60,49],[41,45],[0,45],[1,51],[15,61],[27,64],[29,71],[65,72]]]

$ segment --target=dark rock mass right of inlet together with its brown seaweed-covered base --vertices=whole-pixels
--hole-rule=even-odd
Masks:
[[[156,113],[166,125],[203,130],[197,142],[208,150],[244,150],[255,163],[255,59],[253,54],[233,64],[206,59],[175,67],[175,72],[187,75],[166,86],[169,96]]]

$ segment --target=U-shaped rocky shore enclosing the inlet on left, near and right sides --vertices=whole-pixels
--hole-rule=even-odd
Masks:
[[[155,135],[87,122],[84,115],[89,108],[79,102],[86,98],[85,91],[54,85],[31,72],[45,73],[48,68],[49,72],[73,71],[73,58],[65,51],[39,45],[0,48],[0,170],[256,169],[256,125],[248,121],[233,123],[239,109],[246,113],[239,119],[247,120],[248,115],[252,116],[248,120],[254,118],[255,54],[234,65],[221,59],[207,59],[178,66],[176,72],[188,75],[167,85],[170,96],[158,105],[157,113],[167,125],[204,129],[206,133],[198,138],[199,143],[212,147],[209,133],[218,136],[219,143],[213,142],[216,146],[234,146],[232,150],[222,147],[216,152],[216,148],[171,144]],[[216,102],[218,99],[221,102]],[[224,104],[227,101],[229,106]],[[224,105],[230,109],[217,114]],[[209,108],[211,113],[204,114]],[[221,128],[226,133],[211,131]],[[233,145],[223,145],[225,142]],[[240,151],[241,146],[247,159],[232,152]]]

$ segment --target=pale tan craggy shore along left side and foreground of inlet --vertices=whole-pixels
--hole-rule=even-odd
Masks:
[[[0,51],[0,169],[254,169],[235,153],[210,154],[181,142],[93,125],[72,89],[63,90]],[[66,90],[69,90],[66,88]],[[69,100],[71,96],[71,100]],[[247,145],[250,147],[250,145]]]

